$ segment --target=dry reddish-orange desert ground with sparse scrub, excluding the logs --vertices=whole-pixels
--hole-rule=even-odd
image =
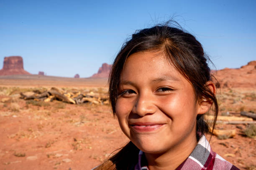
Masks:
[[[0,170],[90,170],[128,139],[108,104],[74,105],[23,100],[20,92],[61,90],[107,92],[106,79],[74,79],[39,75],[0,77]],[[256,112],[255,88],[218,89],[220,115]],[[212,136],[212,149],[241,170],[256,170],[256,139],[246,136],[247,124],[218,123],[236,130],[233,138]],[[207,135],[210,138],[210,135]]]

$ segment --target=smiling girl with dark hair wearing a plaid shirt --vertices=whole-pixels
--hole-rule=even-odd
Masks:
[[[131,140],[95,170],[238,170],[214,153],[204,115],[218,104],[202,45],[168,23],[139,30],[113,63],[113,113]]]

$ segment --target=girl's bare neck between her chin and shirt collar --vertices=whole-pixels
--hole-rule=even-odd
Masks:
[[[175,170],[189,157],[196,145],[197,139],[195,137],[189,143],[179,143],[165,153],[145,153],[149,170]]]

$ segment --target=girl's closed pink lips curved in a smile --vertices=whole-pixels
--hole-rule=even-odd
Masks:
[[[159,123],[133,123],[131,128],[137,132],[151,132],[159,129],[164,124]]]

